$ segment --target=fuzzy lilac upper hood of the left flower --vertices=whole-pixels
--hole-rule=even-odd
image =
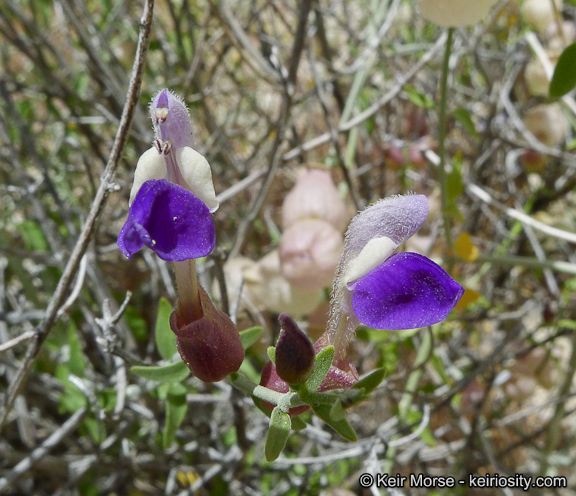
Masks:
[[[157,121],[158,109],[167,109],[164,119]],[[190,114],[184,101],[168,88],[160,90],[150,103],[150,117],[156,137],[170,140],[172,147],[194,146]]]

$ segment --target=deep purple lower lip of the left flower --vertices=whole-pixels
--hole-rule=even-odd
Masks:
[[[166,179],[152,179],[142,185],[118,235],[118,247],[128,258],[146,245],[169,262],[204,257],[215,244],[208,207]]]

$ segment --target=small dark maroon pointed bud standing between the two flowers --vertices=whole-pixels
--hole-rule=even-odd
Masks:
[[[314,368],[314,346],[296,322],[280,315],[280,338],[276,344],[276,371],[288,384],[302,384]]]

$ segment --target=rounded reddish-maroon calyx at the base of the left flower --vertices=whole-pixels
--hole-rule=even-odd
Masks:
[[[202,317],[181,322],[176,309],[170,315],[170,328],[190,371],[201,381],[217,382],[238,371],[244,360],[244,348],[228,315],[214,306],[201,286],[198,290]]]

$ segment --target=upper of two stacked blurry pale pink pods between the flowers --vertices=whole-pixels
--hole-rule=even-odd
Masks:
[[[343,232],[350,215],[327,170],[302,169],[282,205],[282,226],[288,229],[302,219],[320,219]]]

